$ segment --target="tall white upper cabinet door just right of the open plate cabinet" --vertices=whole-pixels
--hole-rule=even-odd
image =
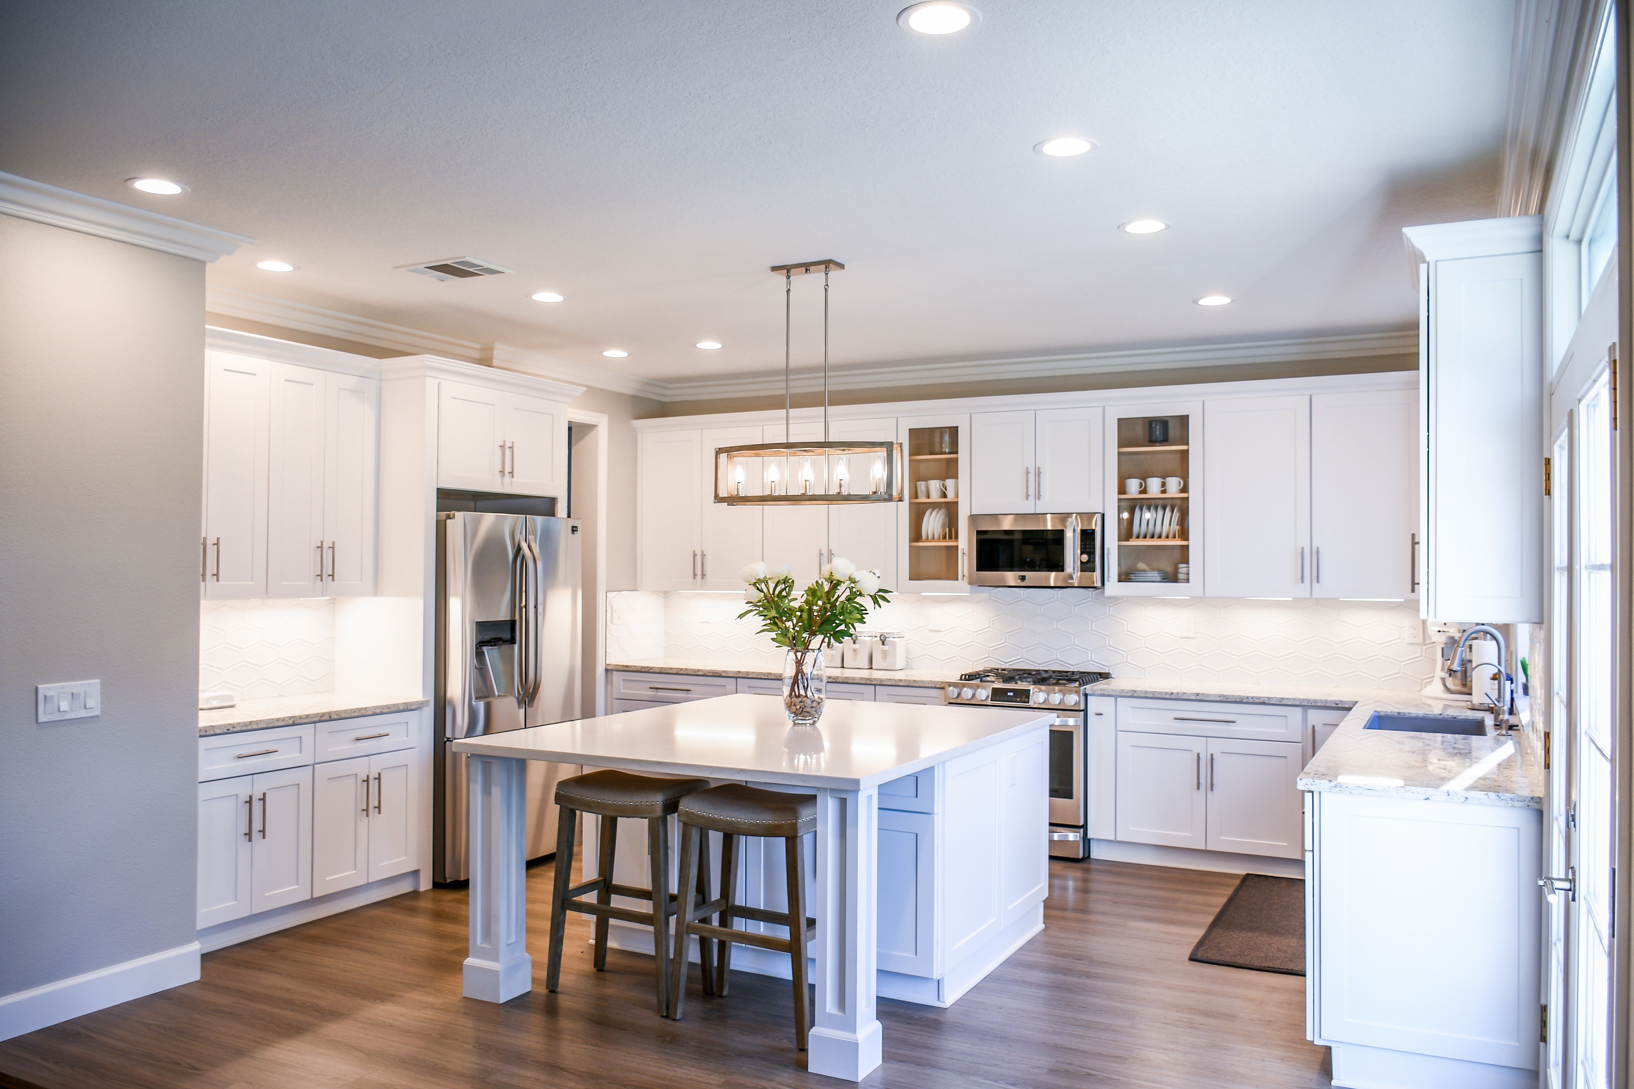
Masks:
[[[1310,596],[1310,397],[1208,402],[1209,598]]]

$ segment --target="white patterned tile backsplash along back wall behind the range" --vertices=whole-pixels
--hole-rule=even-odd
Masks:
[[[783,663],[742,594],[608,594],[608,661],[732,658]],[[1381,601],[1108,598],[1088,589],[900,594],[869,629],[902,630],[909,668],[1108,669],[1119,678],[1418,689],[1433,676],[1418,609]],[[662,630],[662,642],[660,642]]]

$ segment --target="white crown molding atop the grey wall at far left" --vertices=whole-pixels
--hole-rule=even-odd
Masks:
[[[0,214],[211,263],[255,238],[0,173]]]

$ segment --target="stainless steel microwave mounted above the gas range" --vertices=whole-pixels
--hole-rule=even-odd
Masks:
[[[1100,514],[972,514],[972,586],[1100,586]]]

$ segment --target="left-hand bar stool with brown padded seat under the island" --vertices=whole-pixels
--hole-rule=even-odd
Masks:
[[[659,779],[655,776],[636,776],[627,771],[592,771],[583,776],[572,776],[556,785],[556,803],[560,807],[556,833],[556,891],[551,896],[551,965],[546,970],[544,989],[554,991],[562,976],[562,942],[567,934],[567,913],[582,911],[596,919],[596,971],[605,971],[608,965],[608,921],[624,919],[652,927],[652,971],[659,991],[659,1016],[668,1012],[670,1001],[670,942],[668,922],[676,911],[678,898],[670,891],[670,836],[668,815],[675,813],[681,798],[688,793],[704,790],[708,779]],[[578,813],[595,813],[601,818],[601,847],[596,856],[596,878],[583,885],[572,883],[574,872],[574,839],[577,836],[575,818]],[[652,870],[652,887],[636,888],[634,885],[618,885],[613,882],[613,852],[618,847],[618,818],[644,818],[647,821],[647,852]],[[708,851],[708,844],[704,847]],[[688,878],[696,885],[694,896],[688,900],[708,900],[708,860],[703,878]],[[596,901],[578,900],[587,893],[595,893]],[[613,896],[634,896],[652,903],[650,911],[619,908],[613,905]],[[703,950],[704,975],[709,973],[709,949]],[[685,965],[683,965],[685,970]]]

